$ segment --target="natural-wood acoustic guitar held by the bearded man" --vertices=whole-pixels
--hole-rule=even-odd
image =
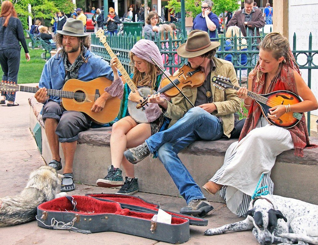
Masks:
[[[85,113],[93,122],[105,124],[113,121],[119,113],[121,100],[112,97],[106,101],[102,111],[92,112],[94,102],[105,93],[104,89],[109,87],[112,81],[106,77],[98,77],[88,82],[78,79],[69,79],[61,90],[47,89],[49,96],[59,96],[61,106],[66,110],[74,110]],[[2,92],[29,92],[36,93],[39,88],[23,86],[14,82],[1,82],[0,91]]]

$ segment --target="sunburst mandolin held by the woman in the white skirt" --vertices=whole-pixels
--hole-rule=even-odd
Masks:
[[[212,82],[215,83],[214,85],[216,85],[216,87],[219,89],[231,88],[239,90],[241,88],[240,86],[233,85],[230,79],[226,79],[224,77],[213,76]],[[269,109],[274,106],[288,104],[293,105],[301,102],[301,98],[293,92],[286,90],[277,90],[263,95],[247,91],[247,96],[255,100],[255,102],[261,109],[263,116],[270,124],[276,125],[284,129],[289,129],[294,127],[301,120],[303,114],[302,112],[287,112],[280,116],[280,118],[274,120],[270,119],[267,116],[267,113],[269,113]]]

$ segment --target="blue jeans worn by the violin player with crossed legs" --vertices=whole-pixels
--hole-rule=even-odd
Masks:
[[[196,140],[218,140],[222,135],[223,126],[218,118],[195,107],[169,129],[146,140],[150,152],[154,154],[157,151],[160,161],[188,204],[192,200],[205,197],[177,154]]]

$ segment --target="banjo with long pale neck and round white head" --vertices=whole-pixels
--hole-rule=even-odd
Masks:
[[[104,30],[98,30],[96,32],[96,36],[100,39],[100,42],[103,43],[104,47],[106,48],[107,52],[109,53],[111,58],[116,57],[114,54],[113,50],[110,48],[108,43],[106,42],[106,36],[104,35]],[[147,52],[147,50],[145,50]],[[123,65],[117,61],[117,67],[118,70],[120,70],[121,75],[125,79],[126,83],[128,84],[128,87],[131,89],[133,93],[139,93],[140,96],[142,96],[144,99],[148,98],[148,95],[152,95],[156,93],[155,90],[147,88],[147,87],[142,87],[137,89],[135,83],[131,80],[130,76],[128,75],[127,71],[123,67]],[[140,101],[141,102],[141,101]],[[127,103],[127,109],[129,112],[129,115],[136,121],[140,123],[148,122],[148,118],[146,116],[146,111],[144,109],[137,109],[137,105],[139,103],[133,102],[131,100],[128,100]]]

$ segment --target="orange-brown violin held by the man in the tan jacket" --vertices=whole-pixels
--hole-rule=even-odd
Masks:
[[[204,83],[205,74],[200,69],[194,70],[187,62],[169,78],[182,90],[184,87],[196,88],[201,86]],[[179,90],[170,82],[169,78],[166,77],[161,81],[160,85],[162,88],[156,93],[163,93],[167,97],[175,97],[179,94]],[[136,108],[144,108],[147,104],[148,98],[144,98],[144,101],[137,104]]]

